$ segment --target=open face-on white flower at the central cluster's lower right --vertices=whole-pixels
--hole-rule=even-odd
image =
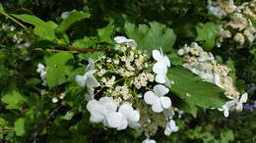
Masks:
[[[168,109],[171,106],[171,101],[169,97],[164,97],[164,95],[169,92],[169,89],[158,84],[154,87],[153,91],[147,91],[144,94],[145,102],[152,105],[152,110],[155,113],[160,113],[163,109]]]

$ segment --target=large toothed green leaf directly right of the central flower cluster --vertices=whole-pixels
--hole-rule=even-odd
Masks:
[[[167,76],[174,81],[170,90],[190,106],[219,108],[225,103],[224,91],[220,87],[203,81],[201,77],[183,67],[170,68]]]

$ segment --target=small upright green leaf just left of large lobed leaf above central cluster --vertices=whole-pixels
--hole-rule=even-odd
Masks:
[[[113,31],[114,31],[114,25],[112,22],[107,24],[105,27],[97,29],[99,42],[112,43]]]

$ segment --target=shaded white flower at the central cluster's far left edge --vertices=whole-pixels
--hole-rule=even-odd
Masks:
[[[90,95],[94,95],[94,88],[98,85],[94,73],[96,70],[87,71],[84,75],[77,75],[76,81],[79,86],[86,86]]]

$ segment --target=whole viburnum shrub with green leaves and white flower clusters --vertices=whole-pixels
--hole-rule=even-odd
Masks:
[[[174,19],[145,24],[127,18],[119,24],[111,13],[105,26],[96,27],[96,14],[86,8],[45,22],[30,12],[5,11],[0,4],[0,14],[6,18],[1,17],[0,29],[0,138],[10,142],[233,141],[231,129],[214,131],[214,123],[197,126],[200,121],[193,119],[204,113],[214,113],[209,117],[218,117],[213,119],[218,123],[233,119],[237,113],[232,111],[241,112],[255,91],[255,84],[244,87],[239,77],[247,75],[237,68],[242,60],[252,61],[243,66],[252,65],[248,72],[255,77],[255,1],[240,6],[233,1],[208,1],[207,5],[208,13],[200,12],[201,8],[195,13],[209,20],[187,21],[182,27],[186,35],[181,36],[181,25]],[[185,6],[175,11],[179,17],[180,11],[189,15]],[[192,25],[193,29],[186,27]],[[226,51],[225,40],[233,46]],[[235,47],[243,46],[249,55],[245,60],[228,58]],[[220,50],[227,58],[215,55]],[[253,82],[253,77],[246,81]],[[114,137],[109,137],[111,133]]]

